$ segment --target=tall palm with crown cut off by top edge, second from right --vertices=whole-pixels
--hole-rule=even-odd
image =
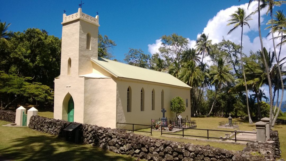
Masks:
[[[251,2],[253,2],[255,0],[249,0],[248,3],[248,7],[251,4]],[[260,27],[260,2],[262,2],[262,4],[265,3],[264,0],[258,0],[258,7],[257,7],[257,11],[258,11],[258,33],[259,33],[259,39],[260,39],[260,45],[261,45],[261,52],[262,52],[262,56],[263,56],[263,62],[265,63],[265,68],[268,69],[267,63],[266,63],[266,58],[265,55],[263,54],[264,50],[263,50],[263,42],[262,42],[262,36],[261,36],[261,27]],[[272,124],[272,115],[273,115],[273,99],[272,99],[272,87],[271,87],[271,78],[270,78],[270,74],[269,74],[269,70],[266,70],[266,74],[267,74],[267,80],[268,80],[268,84],[269,85],[269,99],[270,99],[270,109],[269,109],[269,119],[270,119],[270,124]],[[271,126],[270,126],[271,129]]]

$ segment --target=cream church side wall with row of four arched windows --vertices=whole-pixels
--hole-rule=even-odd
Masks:
[[[136,81],[134,79],[116,80],[116,120],[120,123],[134,123],[150,125],[151,119],[162,118],[161,112],[161,92],[164,90],[164,108],[167,111],[165,117],[174,118],[176,115],[171,112],[170,102],[172,98],[182,97],[185,101],[188,99],[190,104],[190,89],[174,88],[164,84],[158,84],[147,81]],[[127,89],[131,87],[131,112],[127,112]],[[144,111],[140,110],[141,89],[144,88]],[[155,91],[155,110],[152,110],[152,90]],[[186,107],[186,111],[181,114],[184,118],[190,118],[190,107]],[[118,124],[118,128],[123,128],[123,124]],[[126,127],[126,126],[125,126]],[[142,126],[137,126],[143,128]]]

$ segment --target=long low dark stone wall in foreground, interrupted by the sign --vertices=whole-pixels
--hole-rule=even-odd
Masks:
[[[61,135],[61,130],[70,124],[63,120],[32,116],[29,128],[53,134]],[[248,146],[259,148],[255,150],[266,151],[266,155],[253,155],[250,149],[235,152],[207,146],[185,144],[180,142],[160,140],[148,136],[141,136],[125,130],[103,128],[96,125],[82,124],[80,128],[81,141],[84,144],[92,144],[100,148],[108,149],[119,154],[128,154],[147,160],[189,160],[189,161],[261,161],[275,160],[273,155],[273,144],[253,143]],[[253,148],[254,149],[254,148]],[[267,153],[267,150],[269,151]],[[265,153],[263,153],[264,155]]]

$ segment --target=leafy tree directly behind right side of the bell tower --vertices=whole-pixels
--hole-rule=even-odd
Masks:
[[[111,49],[116,46],[116,43],[108,38],[107,35],[100,35],[98,33],[98,57],[110,59],[114,57]]]

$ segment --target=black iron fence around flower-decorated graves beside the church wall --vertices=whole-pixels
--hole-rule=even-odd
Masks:
[[[196,121],[187,120],[186,118],[179,120],[177,118],[151,119],[152,128],[154,130],[176,131],[177,127],[191,128],[196,125]],[[151,129],[152,129],[151,128]]]

